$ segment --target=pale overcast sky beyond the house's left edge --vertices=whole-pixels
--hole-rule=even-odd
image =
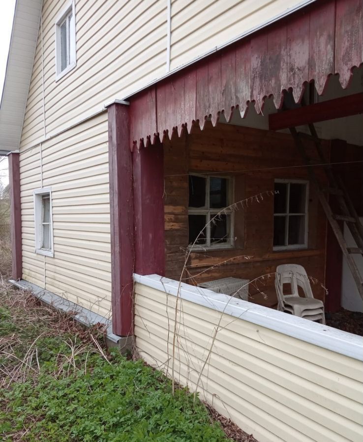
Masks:
[[[11,28],[13,25],[15,0],[0,0],[0,96],[4,84],[6,60],[9,52]],[[0,157],[0,180],[3,185],[8,183],[7,159]]]

